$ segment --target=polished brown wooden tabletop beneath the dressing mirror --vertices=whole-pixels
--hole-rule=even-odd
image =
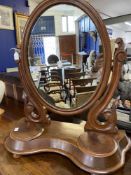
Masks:
[[[0,117],[0,175],[88,175],[68,158],[55,153],[40,153],[14,159],[3,142],[16,122],[23,117],[23,104],[6,99],[1,106],[5,113]],[[126,164],[112,175],[131,175],[131,150]]]

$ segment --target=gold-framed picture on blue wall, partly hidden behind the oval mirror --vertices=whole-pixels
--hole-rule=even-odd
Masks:
[[[21,13],[15,13],[15,27],[16,27],[16,38],[18,47],[21,45],[24,36],[23,34],[24,27],[28,18],[29,18],[28,16],[23,15]]]

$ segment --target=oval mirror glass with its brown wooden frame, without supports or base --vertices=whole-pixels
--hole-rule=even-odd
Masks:
[[[85,3],[42,2],[26,26],[22,69],[27,94],[56,113],[88,109],[108,81],[109,38],[97,12],[95,18]]]

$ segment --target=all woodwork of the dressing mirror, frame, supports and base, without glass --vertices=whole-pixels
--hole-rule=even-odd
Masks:
[[[104,68],[100,84],[85,104],[72,110],[52,106],[40,96],[32,81],[28,65],[29,38],[35,22],[48,8],[59,4],[73,5],[83,10],[96,25],[103,44]],[[105,109],[119,83],[122,64],[126,59],[124,48],[118,47],[112,63],[106,27],[100,15],[85,0],[43,1],[31,14],[25,31],[19,70],[28,96],[24,107],[26,119],[22,119],[6,138],[6,149],[16,158],[20,155],[56,152],[68,157],[92,175],[112,173],[121,168],[125,163],[125,154],[131,147],[131,141],[124,131],[119,131],[116,127],[114,106],[110,110]],[[108,84],[111,72],[112,78]],[[89,113],[83,128],[77,124],[50,121],[47,110],[67,117],[87,110]],[[106,119],[103,123],[98,121],[101,114]]]

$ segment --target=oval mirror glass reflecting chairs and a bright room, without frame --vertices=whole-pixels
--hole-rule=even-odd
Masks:
[[[42,98],[59,108],[77,108],[101,79],[104,60],[97,28],[81,9],[56,5],[32,28],[28,61]]]

